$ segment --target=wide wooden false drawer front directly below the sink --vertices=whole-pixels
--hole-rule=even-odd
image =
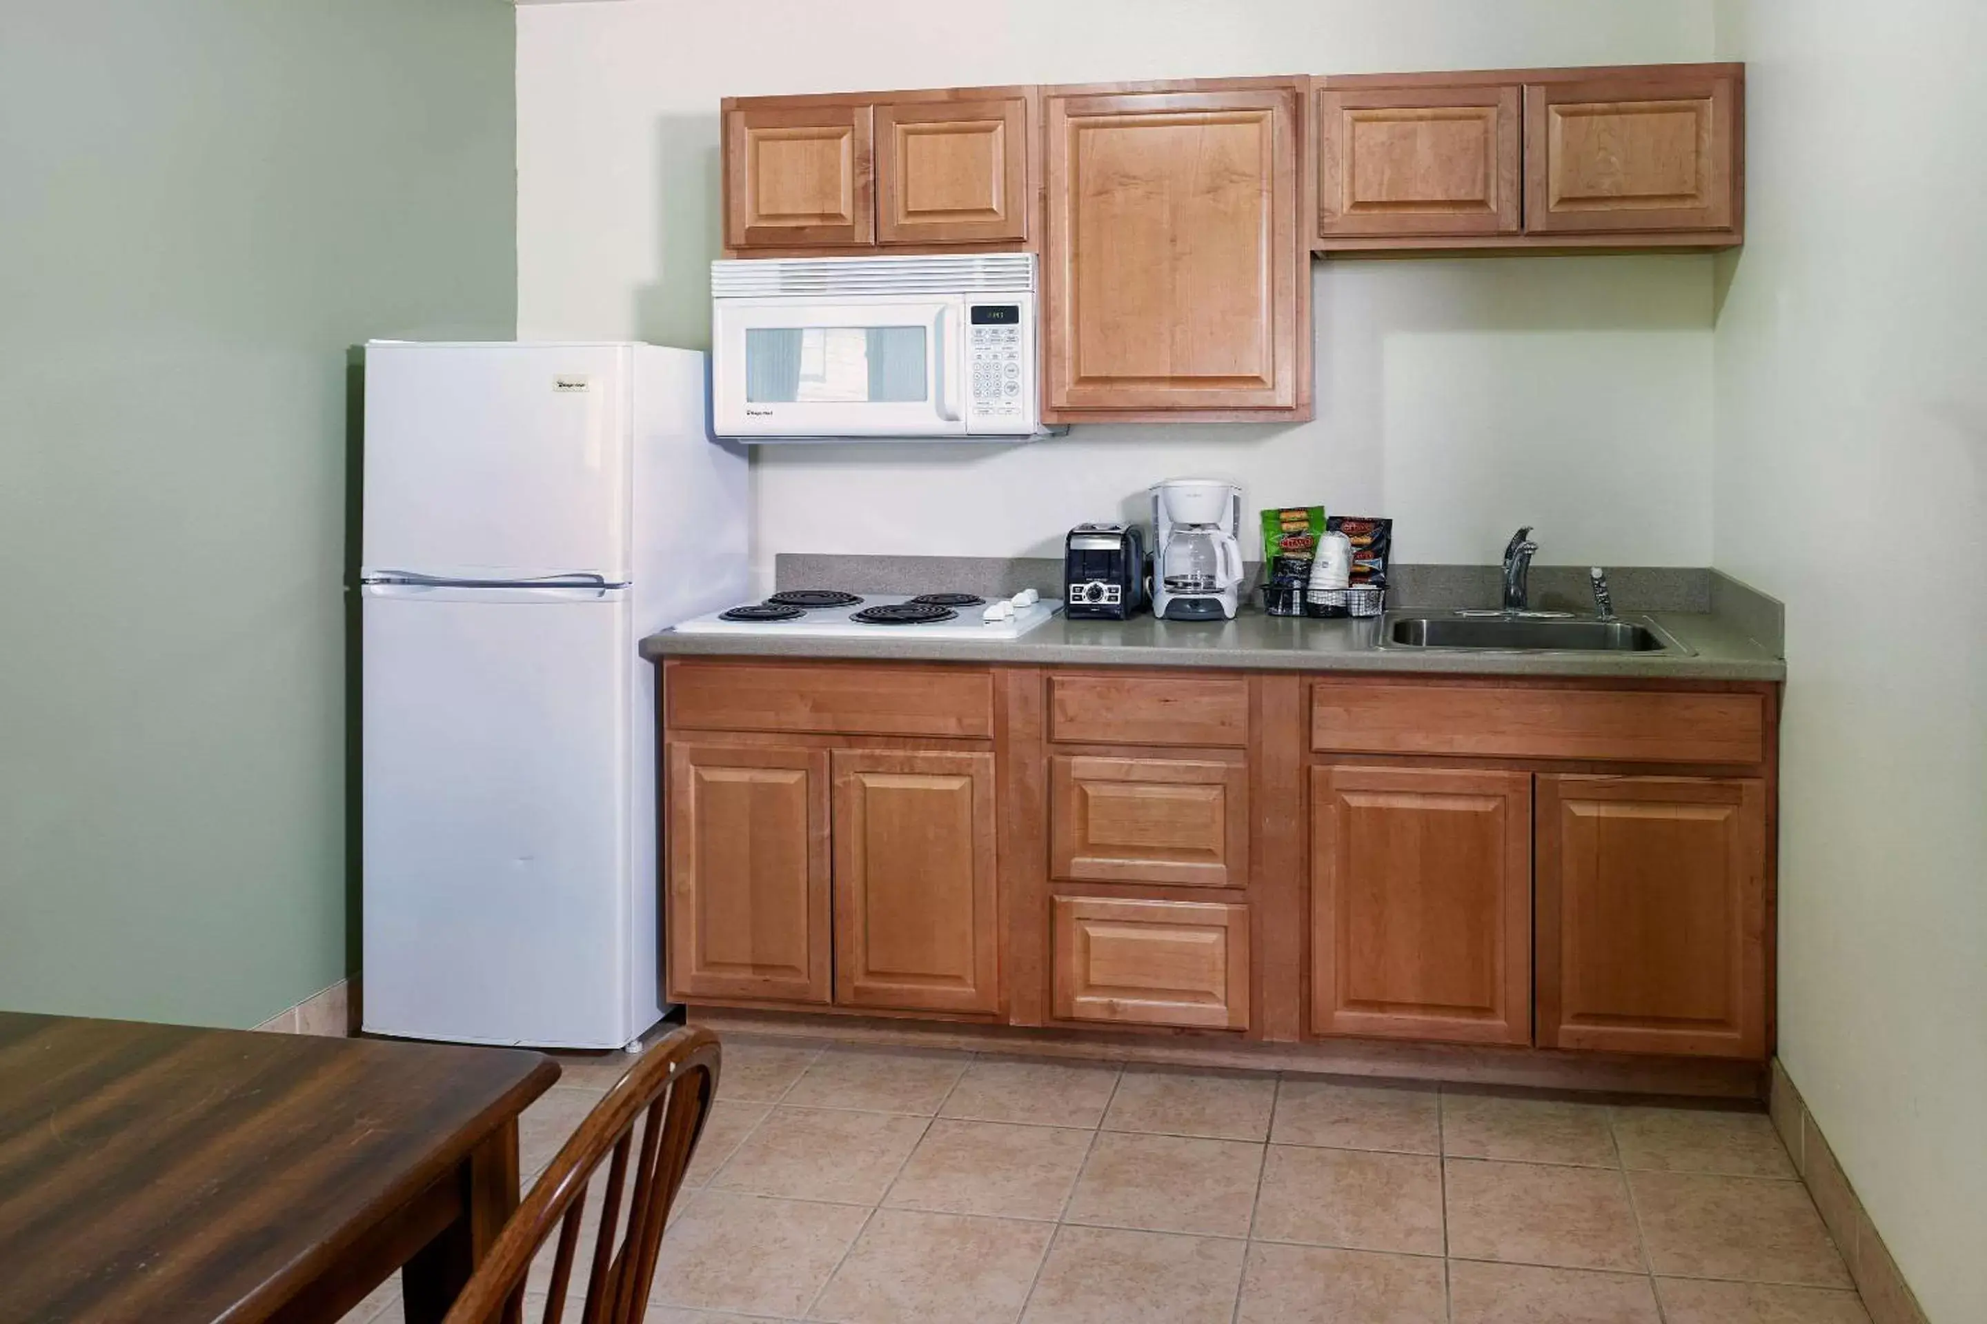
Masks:
[[[1311,685],[1311,748],[1611,762],[1757,764],[1766,699],[1721,691]]]

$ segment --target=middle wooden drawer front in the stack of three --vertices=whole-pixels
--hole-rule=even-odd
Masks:
[[[1049,760],[1049,861],[1063,881],[1248,885],[1248,768],[1184,758]]]

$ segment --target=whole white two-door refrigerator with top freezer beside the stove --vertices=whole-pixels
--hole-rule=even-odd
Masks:
[[[636,645],[747,586],[705,387],[689,349],[366,345],[366,1030],[620,1048],[662,1018]]]

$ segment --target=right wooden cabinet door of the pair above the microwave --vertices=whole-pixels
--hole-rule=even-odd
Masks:
[[[876,242],[1027,238],[1027,97],[876,107]]]

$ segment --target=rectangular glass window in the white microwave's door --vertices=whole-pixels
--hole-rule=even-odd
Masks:
[[[745,330],[753,405],[922,403],[926,328],[811,326]]]

